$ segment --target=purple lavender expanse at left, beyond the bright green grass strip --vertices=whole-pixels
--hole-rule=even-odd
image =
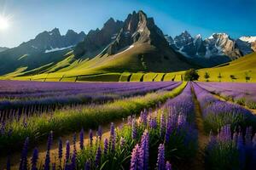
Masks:
[[[0,81],[0,122],[52,113],[65,107],[171,90],[180,82],[14,82]],[[71,108],[72,109],[72,108]]]

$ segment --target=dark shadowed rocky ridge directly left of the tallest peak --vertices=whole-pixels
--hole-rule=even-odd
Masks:
[[[124,23],[119,20],[110,18],[102,27],[102,29],[91,30],[74,49],[74,54],[77,57],[89,56],[94,57],[99,54],[106,46],[113,42]]]

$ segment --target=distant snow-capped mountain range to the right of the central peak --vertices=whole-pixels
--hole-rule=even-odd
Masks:
[[[183,31],[174,38],[166,36],[170,46],[191,60],[207,61],[214,66],[256,51],[256,37],[240,37],[232,39],[226,33],[213,33],[211,37],[202,39],[201,35],[192,37]],[[217,63],[216,63],[217,62]],[[205,63],[206,64],[206,63]]]

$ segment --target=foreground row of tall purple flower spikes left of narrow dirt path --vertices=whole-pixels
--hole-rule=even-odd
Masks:
[[[84,144],[84,131],[79,133],[79,147],[74,135],[73,146],[66,148],[59,139],[58,158],[50,157],[52,133],[49,134],[44,162],[38,161],[38,150],[28,161],[28,139],[20,159],[20,170],[25,169],[172,169],[195,156],[197,132],[195,130],[194,105],[188,85],[183,93],[170,99],[157,111],[143,111],[139,119],[129,116],[128,122],[110,127],[109,138],[102,139],[102,129],[93,138],[89,133]],[[65,152],[65,154],[64,154]],[[149,161],[150,160],[150,161]],[[168,160],[168,161],[167,161]],[[172,167],[171,164],[172,163]],[[7,169],[10,167],[8,161]]]

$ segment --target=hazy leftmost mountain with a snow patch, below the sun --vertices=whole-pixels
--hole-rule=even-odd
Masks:
[[[61,36],[55,28],[44,31],[34,39],[23,42],[16,48],[9,48],[0,53],[0,75],[13,71],[29,71],[44,65],[54,65],[65,59],[65,53],[78,42],[84,40],[84,32],[67,31]]]

